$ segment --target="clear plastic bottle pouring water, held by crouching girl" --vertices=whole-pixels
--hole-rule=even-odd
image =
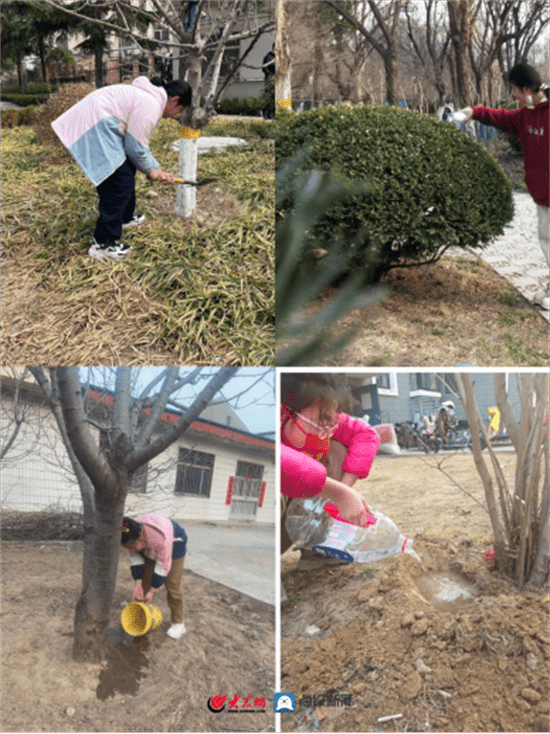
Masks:
[[[378,561],[398,553],[409,553],[420,561],[412,548],[412,538],[402,535],[380,510],[371,507],[372,521],[368,527],[361,528],[336,519],[324,509],[326,502],[320,497],[294,498],[290,502],[285,526],[299,548],[358,563]]]

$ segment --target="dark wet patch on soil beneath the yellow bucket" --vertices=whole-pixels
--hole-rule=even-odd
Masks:
[[[131,637],[122,629],[108,630],[107,641],[107,667],[99,674],[97,698],[105,701],[115,693],[135,696],[149,664],[145,655],[149,647],[147,636]]]

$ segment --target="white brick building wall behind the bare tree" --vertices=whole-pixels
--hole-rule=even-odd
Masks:
[[[11,402],[3,397],[2,431],[9,430],[6,415]],[[29,416],[2,464],[1,501],[4,510],[38,511],[44,509],[81,512],[82,500],[67,452],[49,408],[28,405]],[[97,431],[92,429],[96,434]],[[5,440],[5,439],[4,439]],[[176,495],[177,457],[180,446],[214,454],[210,497]],[[150,462],[145,494],[130,492],[125,512],[135,516],[157,512],[174,519],[209,522],[231,521],[231,506],[225,504],[229,477],[235,476],[237,461],[248,461],[264,467],[266,491],[263,506],[257,509],[256,522],[275,523],[275,452],[270,457],[247,450],[235,441],[220,446],[208,441],[182,440],[170,446]]]

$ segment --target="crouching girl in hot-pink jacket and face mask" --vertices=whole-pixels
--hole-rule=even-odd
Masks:
[[[370,509],[353,485],[368,476],[380,438],[364,421],[340,412],[349,402],[341,375],[281,375],[283,553],[291,545],[284,529],[286,498],[321,495],[344,519],[367,524]]]

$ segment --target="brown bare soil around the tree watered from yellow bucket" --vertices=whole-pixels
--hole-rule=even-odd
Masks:
[[[120,625],[133,584],[121,559],[111,612],[109,659],[75,663],[72,624],[82,543],[2,543],[2,731],[256,732],[274,724],[273,609],[190,571],[184,573],[187,633],[162,628],[126,636]],[[57,572],[56,572],[57,571]],[[212,696],[227,696],[220,713]],[[229,711],[252,696],[253,712]],[[265,699],[265,711],[260,702]]]

